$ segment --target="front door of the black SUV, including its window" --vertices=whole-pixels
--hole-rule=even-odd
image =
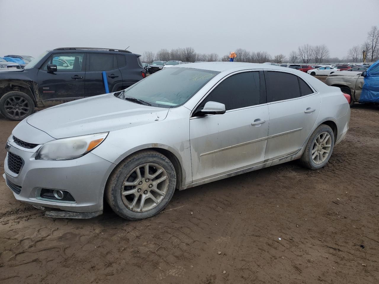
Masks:
[[[84,98],[84,53],[55,53],[38,70],[38,91],[44,106],[53,106]],[[56,72],[47,65],[55,64]]]

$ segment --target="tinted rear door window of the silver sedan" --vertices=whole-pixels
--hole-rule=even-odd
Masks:
[[[267,102],[300,97],[298,76],[283,72],[265,72]]]

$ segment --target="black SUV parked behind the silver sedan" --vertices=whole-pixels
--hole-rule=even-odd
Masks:
[[[105,94],[105,81],[109,92],[126,89],[146,77],[140,56],[108,48],[46,51],[23,69],[0,72],[0,112],[10,120],[22,120],[35,107]]]

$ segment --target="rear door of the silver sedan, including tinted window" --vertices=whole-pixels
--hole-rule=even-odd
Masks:
[[[265,71],[269,130],[265,161],[296,153],[316,123],[321,98],[298,76]]]

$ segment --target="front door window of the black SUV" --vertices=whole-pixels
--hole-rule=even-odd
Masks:
[[[55,53],[45,62],[42,70],[47,71],[48,64],[55,64],[57,72],[81,71],[84,53]]]

